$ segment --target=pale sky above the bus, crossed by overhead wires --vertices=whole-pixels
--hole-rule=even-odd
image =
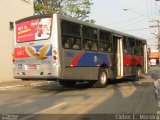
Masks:
[[[90,18],[95,24],[128,33],[147,40],[157,49],[157,20],[160,1],[155,0],[92,0]],[[124,10],[127,8],[127,11]],[[154,26],[154,27],[151,27]]]

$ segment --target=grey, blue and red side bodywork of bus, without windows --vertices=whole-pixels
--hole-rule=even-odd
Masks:
[[[81,25],[86,25],[86,23],[68,18],[65,16],[59,17],[61,20],[68,20],[71,22],[75,22]],[[59,26],[61,27],[60,23]],[[92,26],[97,27],[99,29],[104,29],[100,26]],[[61,29],[61,28],[60,28]],[[107,29],[108,30],[108,29]],[[111,30],[112,31],[112,30]],[[114,31],[112,31],[114,33]],[[61,31],[59,31],[61,33]],[[137,55],[125,55],[123,53],[123,35],[121,33],[114,33],[115,38],[117,41],[117,51],[116,53],[100,53],[100,52],[93,52],[93,51],[85,51],[85,50],[73,50],[73,49],[64,49],[62,47],[62,41],[60,41],[60,47],[63,53],[61,54],[61,58],[63,58],[63,63],[61,63],[61,79],[72,79],[72,80],[97,80],[98,79],[98,72],[102,65],[106,64],[109,70],[109,78],[122,78],[126,76],[134,76],[136,75],[137,67],[140,66],[142,72],[144,73],[144,61],[146,58],[144,56],[137,56]],[[60,40],[61,35],[59,36]],[[143,41],[145,44],[146,42]],[[114,43],[113,43],[114,44]],[[143,51],[144,54],[147,52],[146,50]],[[87,57],[86,57],[87,56]],[[97,57],[98,56],[98,57]],[[104,59],[102,56],[107,56],[107,60]],[[131,57],[132,56],[132,57]],[[95,57],[95,58],[94,58]],[[97,58],[96,58],[97,57]],[[84,59],[82,59],[84,58]],[[100,63],[93,62],[94,59],[98,59],[101,61]],[[102,62],[103,61],[103,62]],[[130,63],[128,64],[127,61]],[[96,63],[96,64],[95,64]],[[145,64],[146,65],[146,64]],[[147,68],[146,68],[147,69]]]

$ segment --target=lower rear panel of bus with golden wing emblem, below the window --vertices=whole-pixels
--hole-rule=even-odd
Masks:
[[[46,52],[45,56],[33,55],[30,49],[35,50],[34,54],[38,54],[40,50],[42,51],[42,49],[44,49],[44,52]],[[58,72],[56,72],[58,68],[53,67],[52,51],[53,48],[51,44],[15,48],[15,78],[58,77]]]

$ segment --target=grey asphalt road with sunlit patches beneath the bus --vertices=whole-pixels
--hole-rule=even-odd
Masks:
[[[143,76],[138,81],[112,81],[106,88],[91,88],[86,83],[67,88],[52,82],[1,90],[0,119],[120,119],[121,114],[156,114],[159,101],[154,97],[153,81]]]

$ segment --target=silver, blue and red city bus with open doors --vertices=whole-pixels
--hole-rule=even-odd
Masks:
[[[30,16],[15,22],[13,66],[16,79],[103,88],[147,73],[147,42],[58,13]]]

